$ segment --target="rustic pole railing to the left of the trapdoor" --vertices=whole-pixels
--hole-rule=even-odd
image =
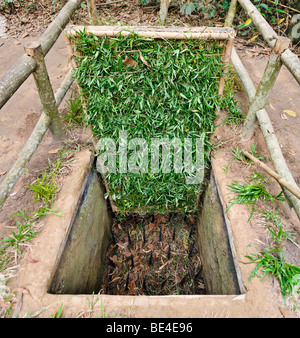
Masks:
[[[33,74],[44,108],[39,121],[21,150],[16,162],[0,184],[0,207],[23,173],[46,131],[50,128],[56,138],[63,136],[58,107],[73,82],[72,69],[67,73],[56,93],[49,80],[44,57],[54,45],[65,26],[80,5],[81,0],[69,0],[48,26],[39,41],[25,46],[24,55],[0,79],[0,108],[12,97],[25,80]]]

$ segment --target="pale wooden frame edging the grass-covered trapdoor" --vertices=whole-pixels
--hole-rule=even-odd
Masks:
[[[74,49],[72,46],[71,37],[78,36],[79,32],[85,32],[86,35],[93,34],[96,36],[127,36],[132,33],[137,33],[142,37],[153,38],[153,39],[170,39],[170,40],[187,40],[187,39],[198,39],[198,40],[210,40],[215,41],[219,40],[224,43],[224,54],[223,61],[225,63],[224,74],[227,72],[228,65],[230,63],[231,53],[233,49],[234,38],[236,33],[231,27],[156,27],[156,26],[68,26],[65,29],[65,41],[67,49],[70,55],[70,62],[73,67],[76,67],[76,62],[74,58]],[[225,76],[221,76],[219,83],[218,95],[221,98],[223,96],[225,85]],[[80,87],[78,86],[79,93],[81,92]],[[84,107],[85,104],[83,103]],[[86,109],[86,107],[85,107]],[[218,115],[218,110],[216,110]],[[97,140],[93,137],[94,148],[97,150]],[[97,169],[100,173],[103,171],[101,161],[97,161]],[[113,212],[118,212],[118,207],[116,202],[113,200],[112,195],[109,192],[109,186],[107,180],[104,179],[103,183],[108,193],[108,198]],[[198,196],[199,202],[200,196]],[[197,203],[198,203],[197,202]],[[179,209],[178,209],[179,210]],[[179,210],[180,211],[180,210]],[[147,208],[143,210],[136,210],[138,213],[149,212]]]

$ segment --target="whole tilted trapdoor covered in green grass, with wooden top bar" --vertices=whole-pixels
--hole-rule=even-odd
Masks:
[[[232,93],[218,93],[233,31],[193,28],[194,38],[188,29],[152,28],[154,38],[147,29],[94,28],[67,33],[113,205],[124,213],[195,211],[216,111],[238,114]]]

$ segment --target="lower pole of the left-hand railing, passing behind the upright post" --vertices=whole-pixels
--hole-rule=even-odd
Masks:
[[[68,74],[64,78],[61,86],[55,93],[55,100],[57,106],[59,106],[69,90],[71,84],[73,82],[73,73],[72,69],[69,70]],[[4,204],[8,195],[10,194],[12,188],[16,184],[19,177],[22,175],[25,167],[30,161],[31,157],[35,153],[38,145],[40,144],[42,138],[44,137],[48,127],[50,125],[51,118],[42,112],[39,121],[37,122],[33,132],[28,138],[25,146],[21,150],[18,159],[10,169],[10,171],[6,174],[5,178],[0,184],[0,207]]]

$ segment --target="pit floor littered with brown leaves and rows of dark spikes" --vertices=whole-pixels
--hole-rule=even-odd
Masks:
[[[115,217],[101,291],[111,295],[205,294],[195,215]]]

